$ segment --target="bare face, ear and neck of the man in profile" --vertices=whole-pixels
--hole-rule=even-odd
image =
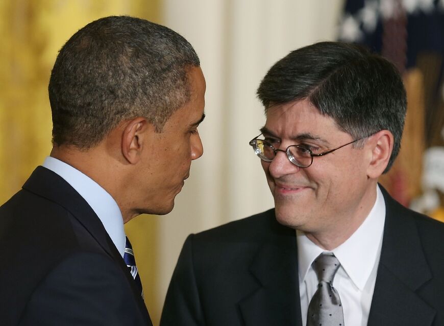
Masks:
[[[97,146],[54,147],[51,156],[100,184],[117,202],[124,223],[135,216],[167,214],[189,176],[191,161],[203,154],[197,130],[205,106],[205,78],[190,67],[190,100],[175,111],[162,132],[143,117],[121,122]]]

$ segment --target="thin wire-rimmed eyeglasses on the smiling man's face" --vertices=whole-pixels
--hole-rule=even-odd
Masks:
[[[260,134],[262,135],[262,134]],[[260,136],[259,135],[259,136]],[[292,164],[295,166],[298,166],[300,168],[308,168],[313,163],[313,157],[317,156],[324,156],[327,154],[330,154],[334,152],[335,150],[338,150],[339,148],[342,148],[344,146],[356,143],[357,141],[360,141],[361,139],[367,138],[362,137],[359,139],[355,139],[354,141],[344,144],[342,146],[336,147],[334,149],[331,149],[324,153],[314,154],[310,149],[301,146],[301,145],[290,145],[287,147],[287,149],[284,151],[283,149],[276,149],[273,147],[272,144],[268,143],[267,141],[264,141],[263,139],[257,139],[259,136],[254,137],[250,141],[250,146],[253,147],[253,150],[257,156],[263,161],[271,162],[275,157],[276,153],[278,151],[284,152],[287,154],[288,159]]]

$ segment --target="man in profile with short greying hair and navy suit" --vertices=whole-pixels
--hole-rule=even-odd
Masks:
[[[106,17],[66,42],[48,91],[51,156],[0,208],[0,324],[151,325],[124,223],[170,212],[203,153],[199,58]]]

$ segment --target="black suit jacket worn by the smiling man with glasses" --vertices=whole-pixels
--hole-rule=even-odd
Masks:
[[[368,325],[444,325],[444,223],[385,191],[386,221]],[[302,325],[295,231],[274,210],[191,235],[161,326]],[[357,325],[348,325],[357,326]]]

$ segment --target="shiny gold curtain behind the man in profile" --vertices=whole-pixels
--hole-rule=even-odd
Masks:
[[[0,204],[16,193],[51,151],[47,84],[58,50],[88,22],[132,15],[160,22],[161,0],[5,0],[0,2]],[[126,224],[145,302],[158,323],[157,225],[150,216]]]

